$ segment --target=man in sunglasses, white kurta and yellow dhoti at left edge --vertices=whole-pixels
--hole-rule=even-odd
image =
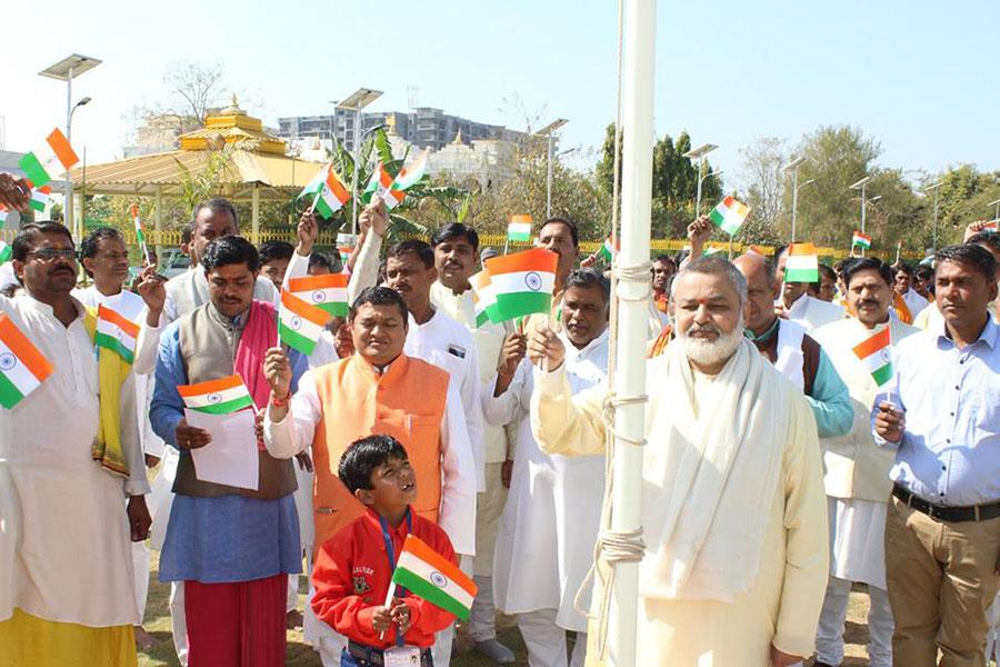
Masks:
[[[19,257],[22,243],[27,252]],[[84,307],[70,297],[77,263],[69,231],[53,222],[28,226],[13,247],[27,293],[0,297],[0,312],[53,371],[0,409],[0,663],[134,665],[130,536],[146,538],[149,484],[132,375],[119,402],[129,470],[122,477],[91,455],[100,420],[98,361]],[[0,357],[6,372],[23,369],[9,350]],[[14,636],[11,627],[20,628]]]

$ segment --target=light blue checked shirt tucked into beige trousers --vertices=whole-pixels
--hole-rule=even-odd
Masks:
[[[902,340],[892,362],[889,400],[906,411],[906,431],[890,478],[936,505],[1000,501],[1000,326],[989,318],[959,349],[942,322]],[[872,427],[886,399],[880,391]]]

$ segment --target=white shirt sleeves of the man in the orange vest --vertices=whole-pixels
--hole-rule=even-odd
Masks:
[[[266,410],[264,445],[274,458],[291,458],[312,445],[316,428],[323,418],[312,370],[299,380],[288,415],[271,421]],[[336,414],[328,414],[336,419]],[[461,398],[452,382],[448,384],[444,415],[441,417],[441,511],[438,525],[448,534],[454,550],[476,555],[476,464],[466,431]]]

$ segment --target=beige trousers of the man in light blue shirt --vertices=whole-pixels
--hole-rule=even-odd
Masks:
[[[893,665],[983,667],[987,609],[1000,588],[998,557],[1000,517],[938,521],[890,498],[886,574],[896,618]]]

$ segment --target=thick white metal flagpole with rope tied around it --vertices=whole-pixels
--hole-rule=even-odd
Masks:
[[[656,69],[656,0],[623,0],[624,40],[622,67],[622,178],[621,251],[618,282],[614,391],[628,401],[646,394],[647,301],[649,275],[628,269],[649,262],[652,208],[653,92]],[[611,529],[636,530],[641,526],[642,448],[632,442],[646,436],[646,404],[624,402],[614,412],[614,487],[611,496]],[[609,617],[609,664],[636,665],[639,611],[639,564],[619,561],[614,568]]]

